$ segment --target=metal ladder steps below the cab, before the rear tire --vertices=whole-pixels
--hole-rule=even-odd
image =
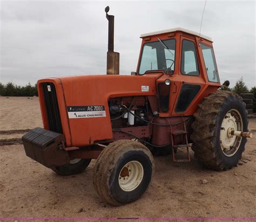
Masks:
[[[172,158],[173,162],[190,162],[190,147],[192,143],[188,143],[187,140],[187,130],[186,130],[186,122],[182,118],[182,123],[183,123],[183,129],[179,130],[172,130],[172,125],[170,124],[170,131],[171,131],[171,143],[172,143]],[[175,141],[175,138],[177,136],[182,136],[182,142],[181,144],[177,144]],[[187,149],[187,158],[186,159],[176,159],[175,153],[174,153],[174,148],[186,148]]]

